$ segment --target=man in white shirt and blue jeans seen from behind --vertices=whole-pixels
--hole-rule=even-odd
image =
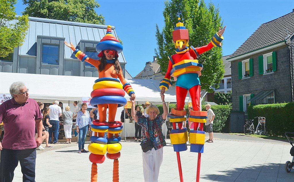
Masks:
[[[59,134],[59,117],[62,115],[61,107],[58,106],[59,101],[54,101],[54,104],[49,106],[50,113],[49,113],[49,123],[52,127],[49,127],[49,142],[51,143],[52,132],[54,135],[53,144],[58,144],[58,134]]]

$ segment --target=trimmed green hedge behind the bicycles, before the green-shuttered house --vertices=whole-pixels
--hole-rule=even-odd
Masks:
[[[261,104],[249,106],[248,119],[265,117],[266,132],[269,135],[284,136],[285,132],[294,132],[294,103]],[[257,119],[254,120],[257,126]]]

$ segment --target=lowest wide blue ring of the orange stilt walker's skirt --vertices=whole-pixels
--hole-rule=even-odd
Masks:
[[[101,96],[91,99],[90,104],[97,108],[97,104],[118,104],[117,107],[124,106],[127,103],[126,98],[122,96]]]

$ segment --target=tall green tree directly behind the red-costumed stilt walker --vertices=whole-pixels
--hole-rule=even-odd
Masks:
[[[189,31],[189,45],[201,47],[210,42],[211,37],[222,26],[218,8],[210,3],[208,7],[203,0],[171,0],[165,2],[163,11],[165,26],[160,32],[156,25],[157,49],[155,54],[158,64],[165,74],[168,67],[168,55],[175,54],[172,31],[178,22],[178,17]],[[200,55],[199,63],[203,64],[201,88],[212,92],[211,86],[218,87],[223,78],[224,66],[222,64],[222,49],[213,47],[212,50]]]

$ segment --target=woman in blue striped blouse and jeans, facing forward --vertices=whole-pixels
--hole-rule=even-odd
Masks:
[[[76,132],[78,133],[78,153],[88,152],[84,149],[86,135],[90,130],[91,118],[90,113],[87,111],[87,104],[82,103],[82,108],[78,111],[76,116]]]

